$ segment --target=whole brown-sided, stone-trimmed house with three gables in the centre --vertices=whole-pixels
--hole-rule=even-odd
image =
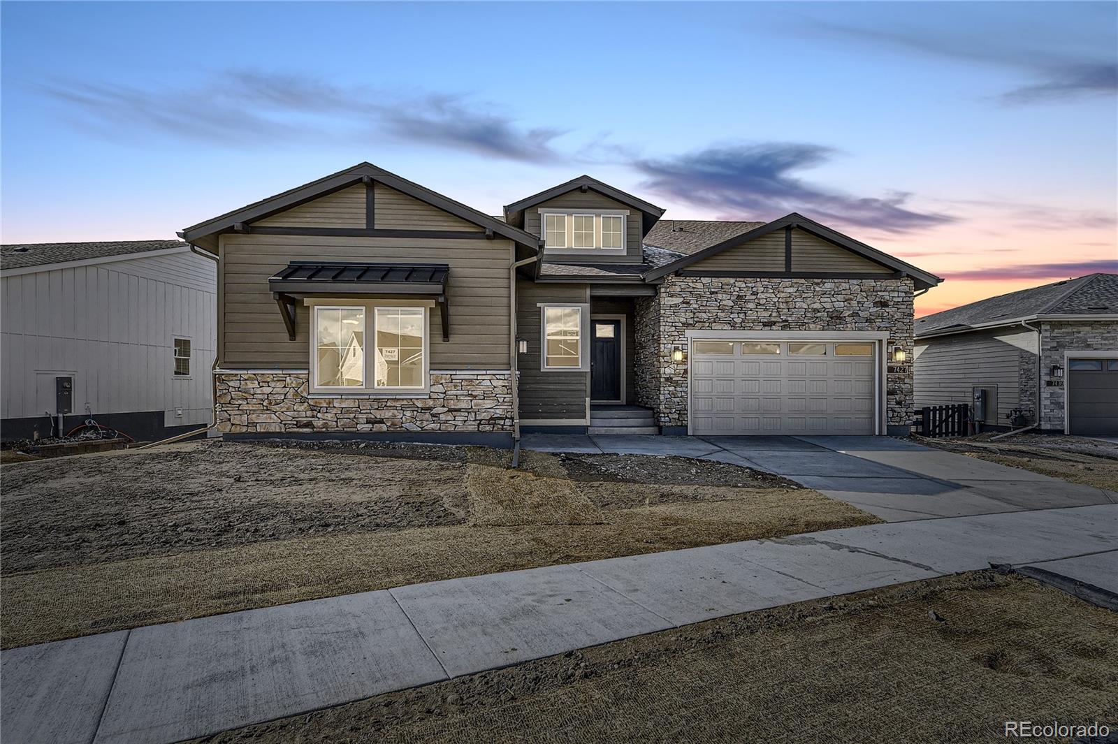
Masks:
[[[673,222],[589,177],[492,217],[369,163],[186,228],[236,437],[897,433],[940,279],[800,214]]]

